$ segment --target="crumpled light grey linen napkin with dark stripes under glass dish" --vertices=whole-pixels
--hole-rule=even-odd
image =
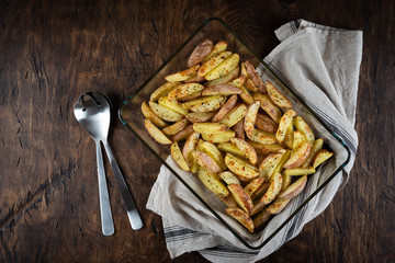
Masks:
[[[354,123],[362,32],[297,20],[281,26],[275,35],[281,43],[264,61],[349,146],[350,161],[343,172],[335,176],[261,250],[247,249],[162,165],[146,207],[162,217],[167,248],[172,259],[198,251],[212,262],[261,260],[297,236],[304,225],[325,210],[348,181],[358,148]],[[259,66],[257,71],[262,72],[262,69]],[[168,162],[177,170],[171,158]],[[317,185],[309,180],[301,195],[313,193]],[[290,206],[298,206],[303,197],[292,199],[278,216],[287,217]]]

